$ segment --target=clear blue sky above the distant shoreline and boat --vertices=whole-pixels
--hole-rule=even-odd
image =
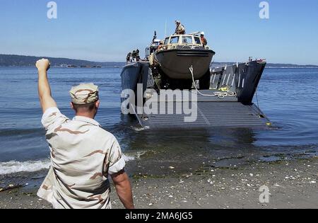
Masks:
[[[187,33],[204,31],[217,62],[318,65],[318,1],[271,0],[261,19],[260,0],[55,0],[57,19],[47,18],[47,0],[0,0],[0,54],[124,62],[165,38],[180,20]]]

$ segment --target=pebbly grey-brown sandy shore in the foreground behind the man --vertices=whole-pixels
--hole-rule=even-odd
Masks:
[[[163,174],[139,173],[146,166],[131,162],[136,208],[317,208],[318,159],[295,159],[272,163],[255,162],[237,167],[216,168],[208,165],[188,171],[166,167]],[[0,192],[0,209],[52,208],[36,196],[46,171],[0,176],[4,185],[24,188]],[[168,173],[168,174],[167,174]],[[259,188],[269,188],[269,203],[259,202]],[[112,188],[113,208],[122,208]]]

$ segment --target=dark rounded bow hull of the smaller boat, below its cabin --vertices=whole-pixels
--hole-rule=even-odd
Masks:
[[[209,70],[213,50],[164,50],[155,52],[160,70],[170,79],[192,79],[189,67],[194,68],[194,79],[201,79]]]

